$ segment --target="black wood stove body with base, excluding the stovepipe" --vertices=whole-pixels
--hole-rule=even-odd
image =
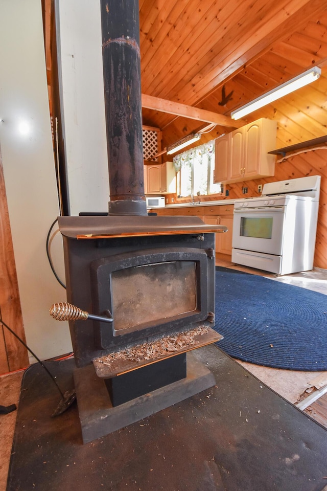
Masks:
[[[184,216],[58,220],[67,301],[98,316],[69,321],[83,441],[214,385],[186,353],[221,339],[214,247],[226,229]]]

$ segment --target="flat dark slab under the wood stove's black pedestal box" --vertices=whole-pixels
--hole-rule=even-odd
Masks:
[[[186,355],[186,377],[113,407],[104,381],[93,365],[74,370],[83,443],[108,435],[209,387],[215,377],[192,353]]]

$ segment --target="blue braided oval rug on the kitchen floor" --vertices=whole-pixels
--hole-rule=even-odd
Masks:
[[[327,296],[216,267],[217,346],[238,360],[288,370],[327,370]]]

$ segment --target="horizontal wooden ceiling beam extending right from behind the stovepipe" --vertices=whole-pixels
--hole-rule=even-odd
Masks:
[[[226,126],[227,128],[240,128],[244,125],[244,121],[234,121],[223,114],[213,113],[206,109],[199,109],[198,107],[188,106],[186,104],[180,104],[179,102],[168,101],[146,94],[142,94],[142,107],[160,111],[161,113],[196,119],[206,123],[215,123],[218,126]]]

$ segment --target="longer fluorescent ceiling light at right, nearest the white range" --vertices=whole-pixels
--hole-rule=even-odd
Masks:
[[[293,91],[296,91],[298,88],[307,85],[308,83],[314,82],[320,77],[321,70],[318,66],[313,66],[310,70],[301,73],[297,77],[292,78],[288,82],[282,83],[282,85],[278,85],[278,87],[273,88],[272,91],[266,92],[260,97],[257,97],[251,102],[248,102],[244,106],[232,111],[230,113],[230,117],[232,119],[240,119],[247,114],[253,113],[256,109],[260,109],[260,107],[265,106],[266,104],[270,104],[270,102],[275,101],[276,99],[280,99],[281,97],[290,94]]]

